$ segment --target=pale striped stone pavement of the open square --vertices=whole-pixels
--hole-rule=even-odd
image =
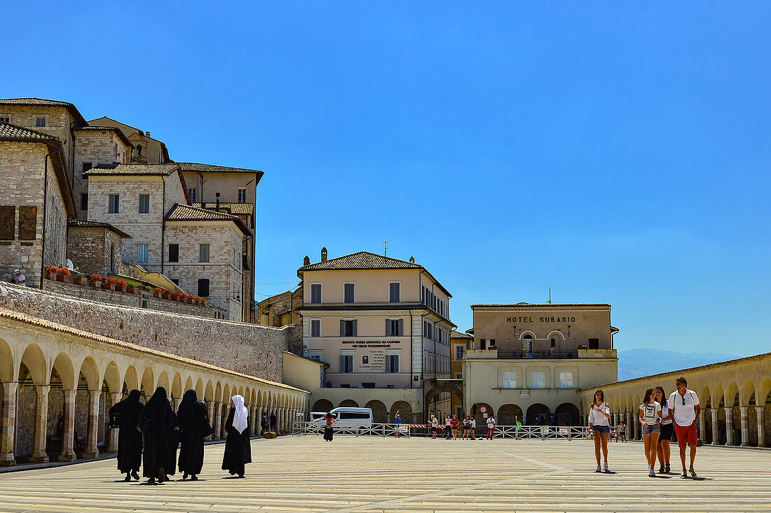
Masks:
[[[595,474],[591,441],[281,437],[252,441],[237,479],[223,447],[207,446],[200,481],[124,483],[115,460],[0,474],[0,511],[771,511],[764,450],[699,448],[697,481],[648,478],[633,442]]]

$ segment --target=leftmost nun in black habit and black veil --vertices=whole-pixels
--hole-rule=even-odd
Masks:
[[[109,427],[118,429],[118,470],[126,474],[124,481],[131,481],[132,477],[140,480],[137,471],[142,464],[142,434],[136,431],[136,422],[144,406],[140,397],[142,392],[130,391],[129,397],[109,409]]]

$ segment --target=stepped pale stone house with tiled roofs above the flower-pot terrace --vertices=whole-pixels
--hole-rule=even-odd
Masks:
[[[123,262],[163,273],[227,310],[229,320],[244,320],[244,280],[251,280],[244,241],[253,236],[241,217],[191,206],[177,163],[101,165],[84,174],[89,221],[132,237],[123,243]]]

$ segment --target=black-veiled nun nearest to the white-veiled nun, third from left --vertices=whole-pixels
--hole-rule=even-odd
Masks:
[[[198,401],[194,390],[185,392],[180,409],[177,410],[177,424],[182,431],[182,448],[180,449],[180,472],[182,479],[197,480],[201,468],[204,467],[204,438],[211,433],[211,424],[206,414],[204,403]]]

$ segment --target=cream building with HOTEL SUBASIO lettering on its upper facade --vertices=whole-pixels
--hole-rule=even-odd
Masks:
[[[616,381],[609,304],[476,304],[463,359],[466,412],[498,424],[578,425],[579,389]],[[524,421],[523,421],[524,419]]]

